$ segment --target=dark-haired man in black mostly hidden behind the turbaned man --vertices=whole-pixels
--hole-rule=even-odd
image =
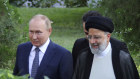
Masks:
[[[83,20],[83,30],[85,33],[85,38],[79,38],[75,41],[73,49],[72,49],[72,56],[73,56],[73,67],[75,68],[76,61],[78,56],[81,54],[81,50],[89,47],[89,41],[87,39],[88,31],[85,29],[85,22],[89,16],[102,16],[99,12],[97,11],[88,11],[85,13],[82,17]],[[115,45],[118,44],[118,47],[120,49],[123,49],[124,51],[128,52],[128,48],[124,42],[121,42],[119,40],[116,40],[115,38],[110,39],[111,43],[114,43]]]

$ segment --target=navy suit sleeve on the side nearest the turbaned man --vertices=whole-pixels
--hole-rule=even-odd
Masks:
[[[60,63],[60,78],[71,79],[73,74],[73,60],[70,52],[65,52]]]

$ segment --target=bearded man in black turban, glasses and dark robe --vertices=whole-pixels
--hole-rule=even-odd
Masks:
[[[109,18],[91,16],[85,26],[89,47],[78,56],[73,79],[139,79],[129,52],[119,47],[119,41],[110,42],[114,25]]]

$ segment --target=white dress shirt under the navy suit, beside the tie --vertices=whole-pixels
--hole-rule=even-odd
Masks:
[[[50,43],[50,39],[48,38],[48,40],[45,42],[45,44],[43,44],[42,46],[39,47],[40,51],[39,51],[39,65],[42,61],[42,58],[48,48],[48,45]],[[33,60],[35,57],[35,48],[36,46],[32,46],[32,49],[30,51],[30,55],[29,55],[29,74],[31,75],[31,69],[32,69],[32,64],[33,64]]]

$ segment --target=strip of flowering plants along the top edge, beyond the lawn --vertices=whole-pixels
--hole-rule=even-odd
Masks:
[[[26,1],[27,0],[10,0],[9,2],[12,5],[22,7]],[[28,0],[28,1],[30,1],[30,3],[28,4],[29,7],[36,7],[36,8],[38,7],[50,8],[55,3],[61,4],[59,0]],[[86,7],[88,0],[61,0],[61,1],[64,1],[65,3],[64,5],[66,5],[66,7]]]

